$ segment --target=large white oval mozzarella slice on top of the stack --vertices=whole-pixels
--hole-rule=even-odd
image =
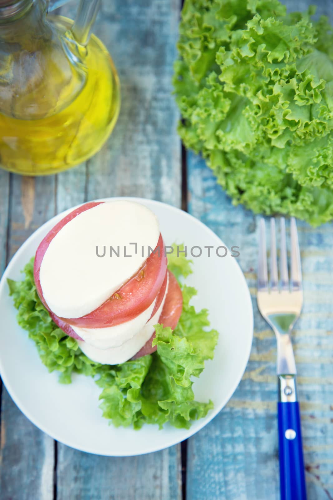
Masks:
[[[109,201],[81,212],[54,236],[42,259],[39,279],[47,305],[65,318],[93,311],[135,274],[158,238],[157,217],[139,203]],[[119,246],[119,256],[110,256],[110,246]],[[103,257],[96,247],[99,255],[105,247]]]

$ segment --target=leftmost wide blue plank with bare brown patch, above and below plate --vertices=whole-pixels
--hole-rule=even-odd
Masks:
[[[0,172],[2,176],[2,172]],[[6,175],[6,174],[5,174]],[[54,177],[11,175],[8,255],[54,214]],[[5,201],[5,200],[4,200]],[[13,360],[14,362],[15,360]],[[54,442],[16,407],[3,388],[0,433],[0,497],[4,500],[53,498]]]

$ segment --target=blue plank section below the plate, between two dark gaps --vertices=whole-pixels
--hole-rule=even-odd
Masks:
[[[57,500],[179,500],[180,448],[134,457],[107,457],[61,445]]]

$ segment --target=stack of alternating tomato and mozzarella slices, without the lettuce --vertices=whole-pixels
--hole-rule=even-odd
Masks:
[[[174,329],[182,310],[157,217],[132,201],[90,202],[67,214],[38,246],[34,281],[53,321],[104,364],[156,350],[154,325]]]

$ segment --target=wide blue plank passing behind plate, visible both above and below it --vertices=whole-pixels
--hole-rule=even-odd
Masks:
[[[57,211],[119,195],[180,205],[178,112],[171,96],[179,8],[178,1],[103,2],[94,31],[119,71],[121,112],[109,140],[86,167],[57,176]],[[62,13],[72,17],[72,5]],[[57,451],[58,500],[181,498],[180,446],[124,458],[82,453],[61,443]]]

